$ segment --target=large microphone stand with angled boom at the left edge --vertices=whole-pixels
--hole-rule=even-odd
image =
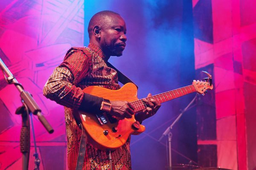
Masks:
[[[3,71],[3,76],[8,84],[14,84],[18,91],[20,92],[20,98],[23,106],[17,108],[16,114],[21,114],[22,117],[22,127],[20,131],[20,152],[22,153],[22,170],[28,170],[29,168],[29,152],[30,152],[30,123],[29,123],[29,113],[33,113],[38,116],[40,122],[44,125],[48,133],[53,133],[51,125],[47,122],[44,116],[41,114],[41,109],[38,104],[32,98],[28,91],[24,91],[23,86],[17,82],[15,77],[4,64],[3,60],[0,58],[0,68]],[[6,77],[6,75],[8,77]],[[31,119],[32,132],[35,142],[35,134],[33,123]],[[35,170],[39,170],[40,159],[38,159],[38,153],[35,145]],[[39,161],[38,161],[39,160]]]

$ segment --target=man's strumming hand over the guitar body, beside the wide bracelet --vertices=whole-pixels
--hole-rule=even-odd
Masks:
[[[109,114],[115,116],[117,119],[131,118],[134,114],[134,107],[129,102],[111,101],[111,111]]]

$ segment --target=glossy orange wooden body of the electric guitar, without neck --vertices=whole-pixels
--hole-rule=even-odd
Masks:
[[[128,101],[132,102],[138,100],[137,87],[132,83],[125,84],[119,90],[110,90],[98,86],[89,86],[84,88],[84,93],[92,94],[94,96],[103,97],[111,101]],[[116,149],[121,147],[127,141],[128,137],[138,135],[145,131],[145,126],[139,125],[139,129],[132,125],[136,122],[134,115],[131,119],[117,120],[115,123],[108,121],[101,125],[95,113],[86,113],[79,111],[75,114],[76,118],[80,119],[84,130],[87,133],[88,140],[94,146],[101,150]],[[113,130],[115,128],[115,130]],[[106,130],[108,134],[105,135]],[[116,132],[115,132],[116,131]]]

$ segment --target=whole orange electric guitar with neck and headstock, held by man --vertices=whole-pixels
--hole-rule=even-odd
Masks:
[[[192,85],[150,96],[146,99],[155,99],[162,103],[192,92],[198,92],[204,95],[207,89],[212,90],[213,88],[212,76],[207,72],[205,73],[208,75],[208,78],[203,79],[205,81],[194,80]],[[84,88],[83,91],[84,93],[103,97],[111,101],[128,101],[134,106],[135,113],[139,113],[147,107],[142,99],[138,100],[137,87],[133,83],[125,84],[119,90],[89,86]],[[132,115],[130,119],[125,118],[117,120],[107,113],[86,113],[78,111],[75,116],[80,119],[87,133],[88,140],[102,150],[113,150],[121,147],[131,134],[138,135],[145,131],[145,126],[140,125],[140,123],[135,120],[134,115]]]

